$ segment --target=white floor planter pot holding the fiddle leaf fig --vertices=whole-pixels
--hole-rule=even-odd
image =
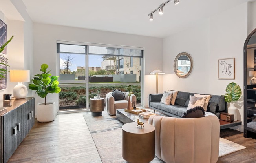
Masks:
[[[48,102],[46,105],[43,103],[37,104],[37,121],[50,122],[55,120],[55,102]]]

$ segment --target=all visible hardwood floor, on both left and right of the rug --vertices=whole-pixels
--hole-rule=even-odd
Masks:
[[[90,112],[60,114],[50,123],[35,121],[30,136],[22,141],[8,162],[101,163],[83,114]],[[217,163],[256,163],[256,139],[244,138],[242,132],[232,129],[221,130],[220,136],[247,148],[223,156]]]

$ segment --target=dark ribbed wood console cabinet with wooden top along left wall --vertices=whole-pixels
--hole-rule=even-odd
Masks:
[[[34,97],[4,101],[0,109],[0,163],[8,161],[34,123]]]

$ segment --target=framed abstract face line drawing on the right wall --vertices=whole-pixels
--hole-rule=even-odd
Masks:
[[[235,58],[218,60],[218,79],[235,79]]]

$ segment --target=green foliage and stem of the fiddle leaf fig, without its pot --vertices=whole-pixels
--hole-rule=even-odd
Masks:
[[[46,96],[48,93],[59,93],[61,91],[58,81],[59,76],[51,76],[47,71],[48,65],[42,64],[40,71],[42,74],[36,74],[32,79],[33,84],[29,84],[29,89],[35,90],[40,98],[44,98],[44,105],[46,105]]]

